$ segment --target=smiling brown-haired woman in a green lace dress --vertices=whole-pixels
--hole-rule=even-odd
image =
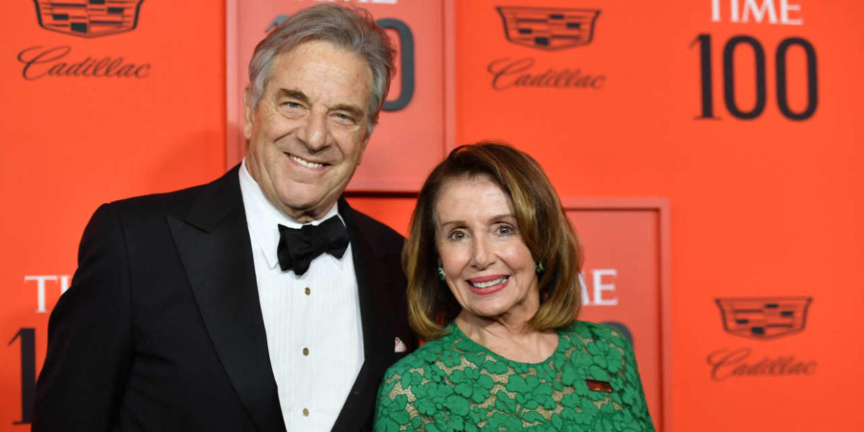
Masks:
[[[429,342],[384,376],[375,429],[653,430],[632,348],[575,321],[581,261],[537,162],[499,143],[454,149],[403,250],[409,321]]]

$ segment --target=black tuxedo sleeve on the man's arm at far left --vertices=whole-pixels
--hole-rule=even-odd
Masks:
[[[114,428],[129,375],[129,265],[115,206],[93,214],[72,286],[48,321],[48,354],[36,384],[33,431]]]

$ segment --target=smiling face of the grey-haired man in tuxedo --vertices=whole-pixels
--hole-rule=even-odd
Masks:
[[[274,206],[300,222],[339,199],[369,142],[372,71],[357,54],[308,41],[273,60],[256,107],[246,95],[246,168]]]

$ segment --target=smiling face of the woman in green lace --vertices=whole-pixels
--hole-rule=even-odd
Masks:
[[[462,314],[527,321],[537,312],[536,264],[510,197],[488,177],[444,184],[435,202],[435,240]]]

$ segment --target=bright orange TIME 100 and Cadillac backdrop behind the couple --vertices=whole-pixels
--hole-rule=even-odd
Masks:
[[[238,163],[252,50],[314,3],[5,5],[0,430],[29,430],[92,212]],[[508,141],[562,197],[579,318],[632,340],[658,430],[864,430],[864,4],[351,3],[398,48],[353,206],[404,233],[449,149]]]

